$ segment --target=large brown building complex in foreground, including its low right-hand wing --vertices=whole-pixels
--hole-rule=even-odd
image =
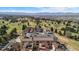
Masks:
[[[56,51],[65,50],[65,46],[57,41],[51,31],[42,28],[27,28],[23,32],[22,49],[24,51]]]

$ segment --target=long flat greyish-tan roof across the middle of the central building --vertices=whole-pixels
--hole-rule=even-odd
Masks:
[[[53,41],[53,35],[47,35],[47,34],[32,34],[32,37],[24,38],[22,41]]]

